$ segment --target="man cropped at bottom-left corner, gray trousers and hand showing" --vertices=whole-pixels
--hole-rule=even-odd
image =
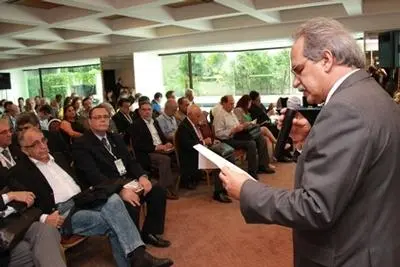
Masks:
[[[6,177],[0,177],[5,181]],[[7,184],[2,185],[7,186]],[[3,188],[4,190],[4,188]],[[2,190],[2,191],[3,191]],[[17,212],[14,202],[24,202],[27,207],[33,205],[35,195],[26,191],[9,191],[0,198],[0,224],[7,225],[6,217]],[[21,217],[21,220],[23,218]],[[60,250],[60,234],[57,228],[34,222],[25,232],[21,241],[10,251],[0,253],[0,266],[54,266],[66,267]]]

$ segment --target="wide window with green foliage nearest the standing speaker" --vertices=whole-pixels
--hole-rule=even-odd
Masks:
[[[290,50],[202,52],[162,56],[164,87],[178,95],[192,87],[198,96],[287,95],[291,89]]]

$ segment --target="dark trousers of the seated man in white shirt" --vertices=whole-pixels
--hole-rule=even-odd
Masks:
[[[265,145],[265,140],[262,136],[259,136],[255,140],[236,140],[231,138],[223,141],[235,149],[246,150],[248,173],[251,176],[257,177],[257,171],[259,168],[268,168],[268,148]]]

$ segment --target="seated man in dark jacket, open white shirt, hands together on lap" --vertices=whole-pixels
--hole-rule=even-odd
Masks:
[[[167,141],[158,125],[151,117],[152,109],[149,102],[139,104],[140,118],[129,128],[133,150],[140,165],[148,172],[152,167],[158,169],[158,184],[167,189],[168,199],[178,199],[171,170],[171,156],[174,156],[173,145]]]

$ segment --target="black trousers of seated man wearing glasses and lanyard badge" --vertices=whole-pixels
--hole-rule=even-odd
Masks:
[[[142,233],[161,235],[164,233],[165,211],[166,211],[166,191],[159,185],[153,185],[146,196],[142,196],[140,202],[146,203],[146,218],[142,227]],[[134,207],[128,202],[124,202],[129,215],[135,222],[138,229],[140,218],[140,207]]]

